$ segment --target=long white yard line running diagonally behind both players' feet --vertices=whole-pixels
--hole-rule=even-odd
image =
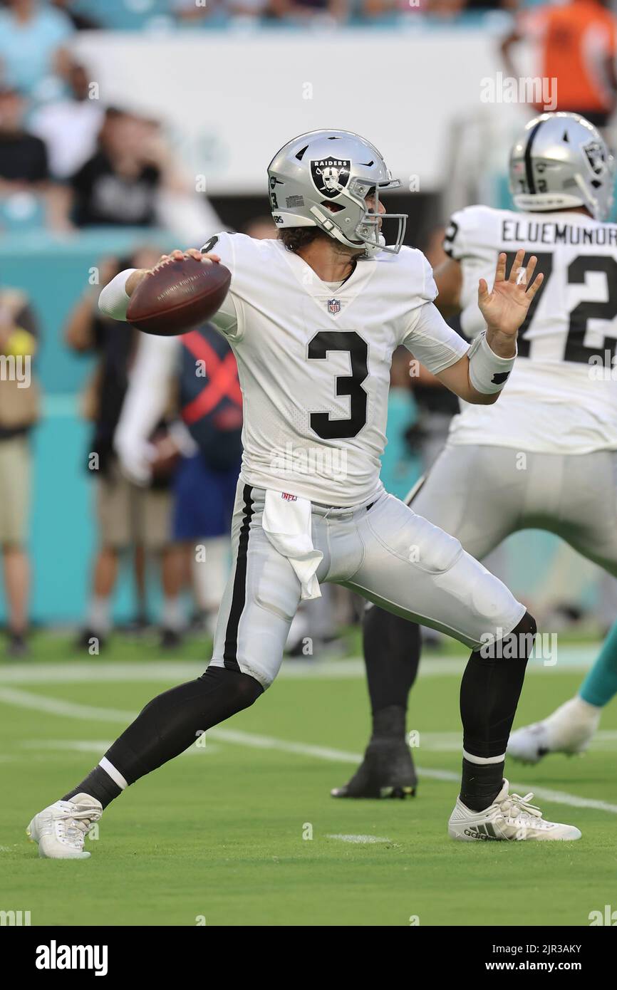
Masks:
[[[0,688],[0,702],[18,708],[46,712],[50,715],[80,719],[86,722],[118,722],[126,725],[137,714],[118,708],[94,708],[89,705],[76,705],[71,701],[48,698],[45,695],[32,694],[29,691],[19,691],[14,688]],[[257,736],[255,733],[245,733],[235,729],[209,729],[207,736],[209,739],[215,739],[221,743],[236,743],[257,749],[277,749],[281,752],[292,752],[296,755],[311,756],[315,759],[326,759],[336,763],[358,763],[361,759],[360,753],[350,752],[347,749],[333,749],[330,746],[311,745],[309,743],[291,743],[287,740],[278,740],[271,736]],[[460,780],[460,774],[454,773],[452,770],[419,766],[418,773],[431,780],[447,780],[453,783],[458,783]],[[521,794],[527,791],[525,784],[511,782],[511,787]],[[567,805],[569,808],[591,808],[594,811],[604,811],[611,815],[617,815],[617,805],[595,798],[582,798],[566,791],[554,791],[547,787],[537,787],[534,794],[541,800],[553,801],[556,804]]]

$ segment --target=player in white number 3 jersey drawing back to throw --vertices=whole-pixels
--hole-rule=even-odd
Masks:
[[[30,836],[44,856],[88,855],[84,834],[114,798],[257,700],[278,672],[298,603],[333,581],[472,650],[450,835],[578,839],[578,829],[545,821],[510,794],[503,777],[534,620],[458,540],[379,482],[394,349],[411,348],[466,402],[492,405],[542,284],[532,280],[536,261],[524,268],[520,250],[507,275],[501,253],[492,290],[479,280],[485,329],[468,347],[433,304],[424,255],[402,247],[406,217],[384,211],[381,194],[398,182],[373,145],[344,131],[305,134],[278,151],[268,180],[279,239],[221,234],[203,248],[205,263],[232,272],[214,322],[236,353],[245,411],[235,562],[212,660],[201,677],[154,698],[84,780],[35,816]],[[388,246],[386,220],[397,227]],[[125,319],[147,275],[116,276],[102,310]]]

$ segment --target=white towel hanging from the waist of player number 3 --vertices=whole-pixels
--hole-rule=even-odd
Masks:
[[[261,526],[271,545],[293,567],[302,586],[300,598],[321,598],[315,571],[324,554],[313,546],[310,501],[267,489]]]

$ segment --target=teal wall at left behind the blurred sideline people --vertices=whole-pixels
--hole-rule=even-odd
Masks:
[[[145,242],[164,245],[158,232],[92,231],[65,240],[46,232],[13,232],[0,242],[0,284],[24,289],[37,314],[41,348],[36,374],[44,391],[44,416],[33,433],[33,618],[44,623],[81,619],[95,546],[93,486],[86,455],[91,425],[79,414],[79,393],[93,358],[75,355],[62,342],[66,316],[88,284],[89,269],[105,255],[123,255]],[[131,614],[130,584],[123,576],[117,619]],[[0,594],[0,621],[4,619]]]

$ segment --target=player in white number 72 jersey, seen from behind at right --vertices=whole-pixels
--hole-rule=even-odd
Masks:
[[[603,223],[613,183],[612,156],[594,127],[577,114],[543,114],[511,152],[520,212],[471,206],[447,230],[437,306],[460,313],[471,339],[483,331],[474,285],[500,252],[510,263],[517,251],[534,251],[545,276],[503,397],[491,410],[463,401],[447,446],[407,499],[478,559],[517,530],[544,529],[617,576],[617,227]],[[359,771],[332,793],[404,796],[416,785],[405,712],[419,631],[370,609],[364,655],[373,734]],[[616,692],[617,626],[579,694],[515,732],[508,752],[536,761],[544,751],[579,751]]]

